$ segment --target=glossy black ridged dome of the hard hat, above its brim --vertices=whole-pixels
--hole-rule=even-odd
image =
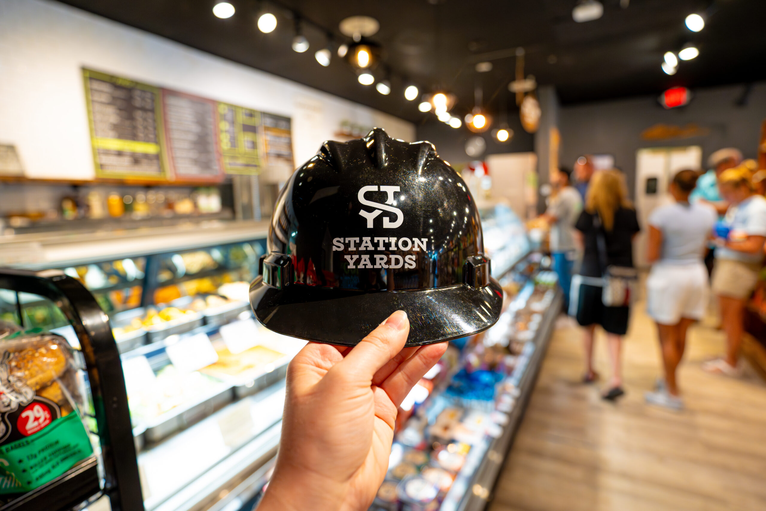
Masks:
[[[463,261],[482,246],[460,175],[429,142],[381,129],[326,142],[301,166],[277,199],[269,239],[271,253],[290,256],[294,283],[352,290],[462,283]]]

